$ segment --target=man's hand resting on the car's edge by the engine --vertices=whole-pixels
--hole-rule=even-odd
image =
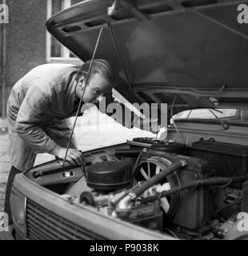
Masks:
[[[77,164],[78,166],[82,166],[84,164],[82,158],[82,152],[74,149],[69,149],[66,155],[66,149],[60,146],[55,146],[54,150],[50,152],[50,154],[55,155],[57,158],[64,159],[66,156],[66,161],[70,162],[71,165]]]

